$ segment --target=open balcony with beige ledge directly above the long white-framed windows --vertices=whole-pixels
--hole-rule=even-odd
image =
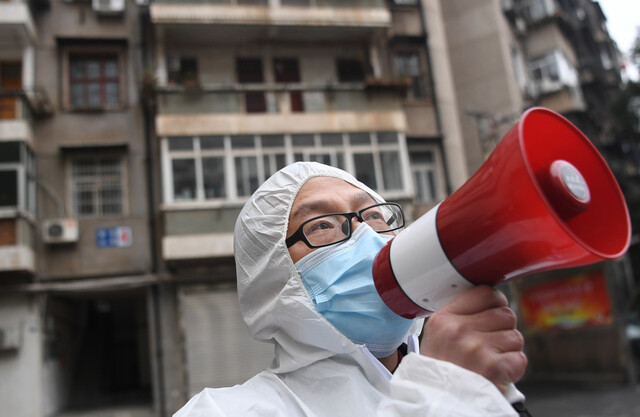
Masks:
[[[158,90],[160,136],[405,131],[399,85],[234,84]]]

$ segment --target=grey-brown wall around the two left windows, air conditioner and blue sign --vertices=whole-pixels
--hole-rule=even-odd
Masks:
[[[38,20],[40,68],[38,84],[45,88],[54,114],[35,126],[38,174],[63,202],[64,209],[43,187],[39,189],[42,221],[76,217],[73,213],[71,161],[83,156],[112,154],[121,158],[123,211],[115,216],[79,217],[79,240],[44,244],[38,230],[41,279],[138,274],[150,268],[148,202],[145,177],[143,114],[139,105],[141,79],[138,7],[127,2],[122,16],[99,16],[90,3],[53,0]],[[113,109],[77,110],[70,105],[69,54],[105,51],[117,54],[120,104]],[[42,226],[42,223],[41,223]],[[131,246],[100,248],[99,229],[130,227]]]

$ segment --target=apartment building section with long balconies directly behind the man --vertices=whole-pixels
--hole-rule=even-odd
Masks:
[[[165,379],[175,409],[271,360],[240,319],[232,257],[235,218],[266,178],[334,165],[415,216],[447,195],[444,160],[463,153],[445,149],[417,1],[162,0],[149,17],[159,254],[184,344],[163,364],[180,376]]]

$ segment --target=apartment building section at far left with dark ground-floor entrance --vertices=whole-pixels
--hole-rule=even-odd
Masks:
[[[138,10],[0,2],[0,403],[13,415],[152,408]]]

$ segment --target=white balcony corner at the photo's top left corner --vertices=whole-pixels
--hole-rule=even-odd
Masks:
[[[0,45],[25,47],[37,39],[31,11],[26,1],[0,2]]]

